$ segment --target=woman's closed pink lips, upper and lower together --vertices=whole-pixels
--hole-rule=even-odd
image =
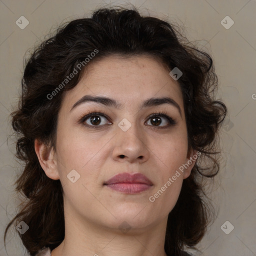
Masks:
[[[142,173],[123,172],[108,179],[104,185],[119,192],[134,194],[149,189],[153,183]]]

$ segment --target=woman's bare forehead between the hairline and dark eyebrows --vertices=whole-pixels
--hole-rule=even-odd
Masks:
[[[89,63],[78,84],[66,92],[65,105],[70,108],[85,94],[111,97],[127,106],[149,97],[170,96],[183,108],[178,82],[163,63],[147,55],[110,55]]]

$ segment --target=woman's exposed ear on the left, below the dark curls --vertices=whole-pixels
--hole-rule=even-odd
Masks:
[[[51,179],[59,179],[57,160],[55,159],[55,152],[53,148],[49,148],[38,139],[35,139],[34,149],[45,174]]]

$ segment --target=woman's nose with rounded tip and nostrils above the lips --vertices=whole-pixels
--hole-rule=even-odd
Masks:
[[[134,124],[126,131],[117,126],[113,143],[112,157],[116,161],[142,163],[149,157],[146,134]]]

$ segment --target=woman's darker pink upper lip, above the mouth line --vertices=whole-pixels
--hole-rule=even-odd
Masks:
[[[143,183],[152,185],[153,183],[142,173],[118,173],[104,182],[104,185],[116,184],[116,183]]]

